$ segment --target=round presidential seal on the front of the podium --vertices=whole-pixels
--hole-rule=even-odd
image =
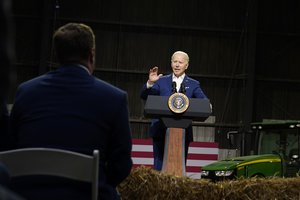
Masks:
[[[174,93],[169,97],[168,106],[174,113],[183,113],[189,107],[189,98],[183,93]]]

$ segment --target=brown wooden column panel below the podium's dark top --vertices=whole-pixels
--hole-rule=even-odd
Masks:
[[[185,176],[185,130],[168,128],[165,139],[162,171],[175,176]]]

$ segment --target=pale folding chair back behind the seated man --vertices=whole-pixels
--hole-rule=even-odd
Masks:
[[[11,177],[50,175],[92,185],[92,200],[98,198],[99,151],[85,155],[55,148],[22,148],[0,152],[0,162]]]

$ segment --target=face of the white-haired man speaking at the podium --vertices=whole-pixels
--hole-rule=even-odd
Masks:
[[[188,68],[188,62],[184,54],[174,54],[171,60],[171,67],[175,76],[181,76]]]

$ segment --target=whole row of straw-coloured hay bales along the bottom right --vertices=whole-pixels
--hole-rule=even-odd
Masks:
[[[300,178],[251,178],[214,183],[139,167],[118,190],[122,200],[300,199]]]

